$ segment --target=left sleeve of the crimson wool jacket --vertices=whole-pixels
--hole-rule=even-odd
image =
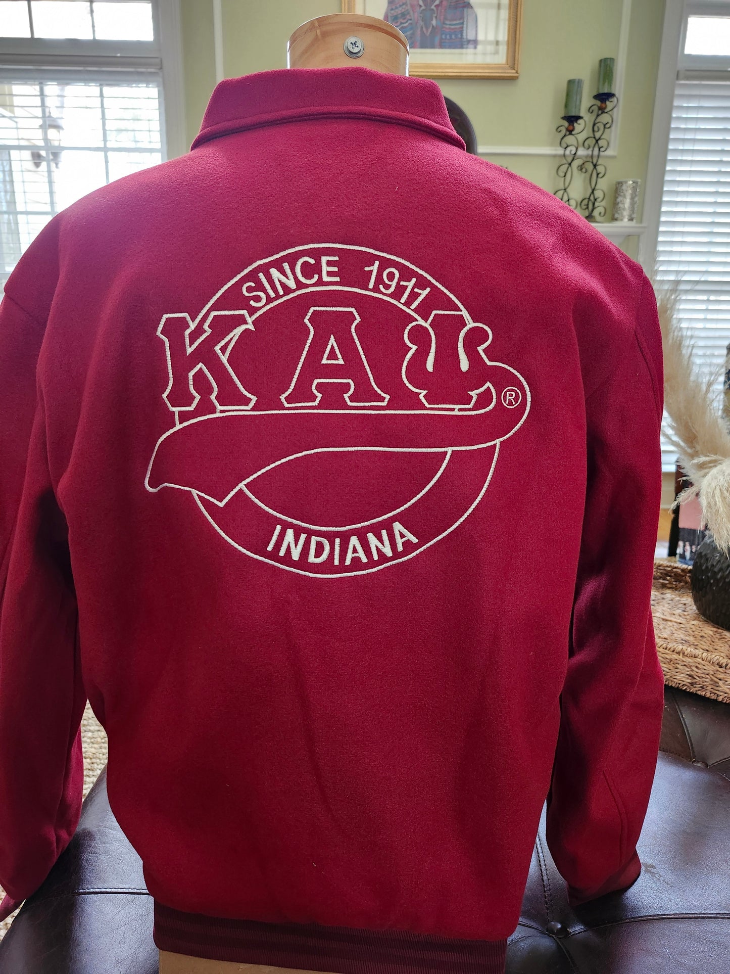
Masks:
[[[43,327],[0,304],[0,919],[46,878],[78,822],[85,705],[65,521],[36,369]]]

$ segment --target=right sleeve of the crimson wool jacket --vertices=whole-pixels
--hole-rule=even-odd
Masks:
[[[644,278],[634,335],[586,399],[587,495],[547,839],[570,902],[623,889],[659,749],[650,612],[661,498],[661,335]]]

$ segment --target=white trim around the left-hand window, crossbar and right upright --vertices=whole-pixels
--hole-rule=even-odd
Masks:
[[[161,142],[163,159],[187,152],[185,94],[182,72],[180,0],[152,0],[154,41],[75,41],[47,38],[0,38],[0,68],[21,76],[34,71],[62,69],[67,76],[101,69],[117,72],[155,72],[161,84]],[[128,74],[127,74],[128,77]]]

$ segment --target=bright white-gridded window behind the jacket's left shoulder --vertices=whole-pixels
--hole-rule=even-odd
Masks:
[[[159,15],[0,0],[0,285],[60,209],[166,156]]]

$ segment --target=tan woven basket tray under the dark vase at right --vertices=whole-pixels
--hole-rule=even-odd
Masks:
[[[690,572],[674,559],[654,562],[651,612],[664,682],[730,703],[730,631],[697,612]]]

